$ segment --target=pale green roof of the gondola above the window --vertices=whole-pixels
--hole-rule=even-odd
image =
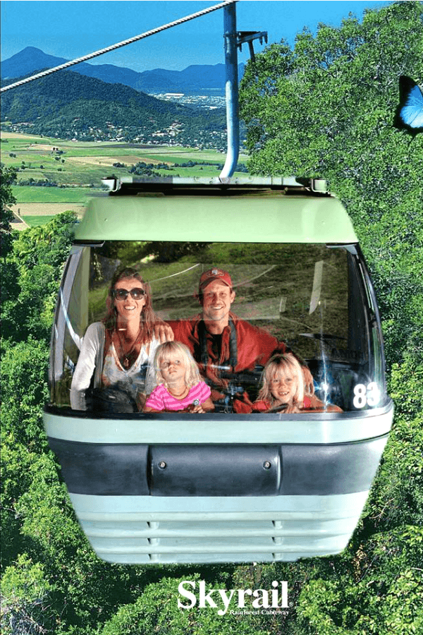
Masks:
[[[336,197],[321,191],[322,181],[314,181],[316,188],[300,186],[294,179],[278,179],[278,185],[272,188],[267,185],[276,179],[247,179],[231,186],[210,181],[204,186],[198,179],[194,186],[192,182],[187,186],[186,181],[175,181],[150,182],[146,186],[145,182],[130,179],[126,189],[119,183],[117,195],[90,200],[75,239],[357,242],[345,208]]]

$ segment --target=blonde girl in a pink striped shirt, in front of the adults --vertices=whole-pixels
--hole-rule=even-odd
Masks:
[[[201,380],[198,366],[180,341],[166,341],[154,356],[157,387],[145,402],[144,412],[206,412],[214,410],[210,388]]]

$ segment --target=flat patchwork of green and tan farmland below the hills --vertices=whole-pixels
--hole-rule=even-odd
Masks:
[[[130,176],[137,162],[165,163],[170,169],[157,171],[162,176],[219,176],[218,165],[225,155],[213,150],[179,146],[142,145],[135,143],[74,142],[39,135],[1,131],[1,162],[18,169],[18,182],[50,181],[57,187],[13,186],[17,204],[13,210],[23,216],[51,217],[71,210],[82,215],[87,199],[99,195],[102,178],[114,174]],[[240,162],[247,157],[241,155]],[[174,167],[176,163],[199,162],[194,167]],[[212,162],[212,165],[201,165]],[[114,163],[125,167],[114,167]],[[235,176],[245,176],[235,172]],[[60,187],[66,186],[66,187]],[[88,187],[90,186],[90,187]],[[19,225],[19,228],[18,226]],[[24,222],[16,225],[23,229]]]

